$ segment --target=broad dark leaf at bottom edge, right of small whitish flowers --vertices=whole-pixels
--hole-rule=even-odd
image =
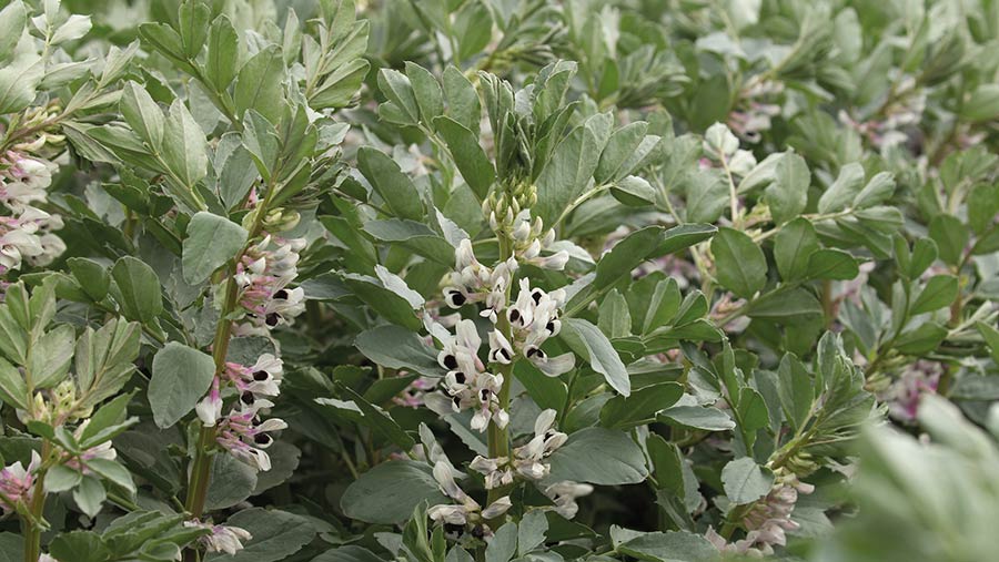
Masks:
[[[314,524],[306,518],[262,508],[240,511],[225,524],[245,529],[253,539],[235,554],[213,552],[205,555],[205,562],[278,562],[302,550],[316,534]]]

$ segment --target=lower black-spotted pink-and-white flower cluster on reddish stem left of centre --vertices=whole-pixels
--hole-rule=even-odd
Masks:
[[[281,359],[263,354],[252,366],[226,362],[223,372],[212,381],[209,395],[198,403],[196,412],[205,427],[216,427],[215,441],[236,459],[256,470],[270,470],[266,449],[273,442],[268,435],[287,425],[278,418],[261,420],[260,415],[274,406],[270,400],[280,394],[283,375]],[[235,400],[228,416],[222,416],[223,389],[232,389]]]

